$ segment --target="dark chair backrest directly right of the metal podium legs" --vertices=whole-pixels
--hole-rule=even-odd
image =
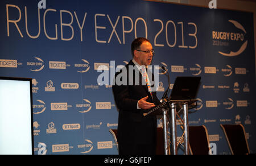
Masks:
[[[209,136],[203,126],[189,126],[189,146],[192,155],[209,155]]]

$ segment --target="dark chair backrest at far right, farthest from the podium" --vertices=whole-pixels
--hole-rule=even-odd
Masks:
[[[232,155],[249,154],[249,146],[242,124],[220,124],[228,141]]]

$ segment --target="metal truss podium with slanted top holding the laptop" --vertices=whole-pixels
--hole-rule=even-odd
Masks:
[[[184,152],[185,155],[189,155],[189,131],[188,131],[188,106],[192,103],[195,103],[197,99],[183,99],[183,100],[170,100],[162,103],[161,105],[155,107],[148,113],[144,113],[144,117],[150,114],[161,115],[163,116],[163,137],[164,137],[164,154],[169,154],[170,143],[172,142],[172,154],[177,155],[177,146],[181,143],[181,140],[184,138]],[[183,110],[183,119],[177,113],[176,107],[182,106]],[[156,111],[158,110],[158,111]],[[159,111],[160,110],[160,111]],[[169,113],[169,116],[168,116]],[[176,127],[176,117],[179,117],[181,123],[183,123],[183,134],[177,142],[177,127]],[[171,121],[170,121],[171,119]],[[171,124],[171,140],[168,137],[168,129]]]

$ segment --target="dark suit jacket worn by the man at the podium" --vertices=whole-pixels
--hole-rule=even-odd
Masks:
[[[145,84],[142,84],[142,81],[144,80],[140,72],[140,84],[137,86],[135,85],[134,71],[134,84],[129,85],[129,65],[134,67],[135,64],[133,63],[133,61],[130,61],[130,63],[124,67],[127,71],[127,84],[121,86],[113,85],[115,104],[119,109],[117,139],[119,143],[155,143],[156,117],[144,117],[143,113],[146,113],[149,110],[137,109],[137,102],[139,101],[139,99],[148,96],[147,102],[155,103],[155,105],[157,106],[159,105],[159,99],[156,97],[156,92],[153,92],[152,99],[150,92],[148,92],[147,86]],[[115,74],[115,78],[117,78],[118,74],[120,74],[121,72],[122,69]],[[152,77],[154,78],[154,75]]]

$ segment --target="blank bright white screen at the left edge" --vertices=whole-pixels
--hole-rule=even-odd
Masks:
[[[32,154],[30,81],[0,80],[0,155]]]

